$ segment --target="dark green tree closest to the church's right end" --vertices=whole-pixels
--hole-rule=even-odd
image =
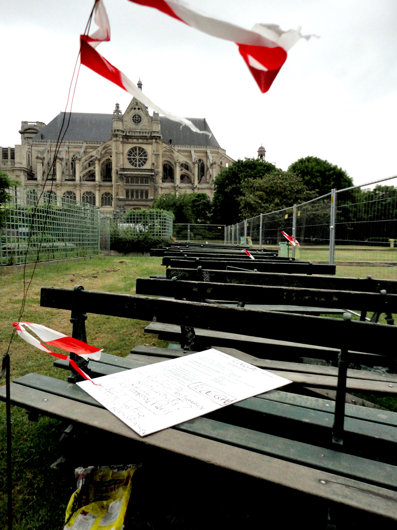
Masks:
[[[227,225],[238,223],[242,218],[242,184],[247,180],[261,179],[274,171],[281,170],[258,158],[237,160],[225,167],[215,180],[213,222]]]

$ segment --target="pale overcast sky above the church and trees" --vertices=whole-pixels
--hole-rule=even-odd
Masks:
[[[179,116],[206,118],[233,158],[256,156],[286,169],[313,155],[356,184],[397,173],[395,0],[192,0],[193,8],[251,28],[275,23],[301,39],[266,94],[237,46],[154,9],[104,0],[111,42],[98,51],[143,92]],[[0,0],[0,145],[20,143],[22,120],[48,123],[64,110],[93,0]],[[84,66],[75,112],[125,110],[131,96]]]

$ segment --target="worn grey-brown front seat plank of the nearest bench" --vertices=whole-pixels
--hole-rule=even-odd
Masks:
[[[79,404],[22,385],[12,384],[11,387],[13,405],[35,409],[46,416],[82,423],[88,427],[103,429],[103,426],[106,426],[108,432],[124,436],[131,441],[143,442],[315,497],[397,520],[397,492],[393,490],[176,429],[165,429],[141,438],[105,409]],[[0,400],[5,400],[4,386],[0,388]]]

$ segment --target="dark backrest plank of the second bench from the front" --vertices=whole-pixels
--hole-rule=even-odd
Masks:
[[[205,299],[245,302],[246,304],[287,304],[325,308],[364,307],[367,311],[397,312],[397,295],[337,291],[335,289],[308,289],[303,287],[275,287],[248,284],[225,284],[186,280],[137,278],[137,294],[173,296],[192,301]],[[269,308],[268,308],[269,310]],[[271,311],[271,310],[270,310]],[[279,308],[278,311],[282,311]]]

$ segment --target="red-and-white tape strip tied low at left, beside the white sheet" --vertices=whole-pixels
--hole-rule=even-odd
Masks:
[[[75,354],[80,355],[84,359],[89,360],[99,360],[101,358],[101,351],[99,348],[95,348],[95,346],[90,346],[89,344],[86,344],[85,342],[74,339],[73,337],[68,337],[68,335],[64,335],[63,333],[59,333],[58,331],[52,330],[50,328],[46,328],[46,326],[43,326],[41,324],[33,324],[32,322],[13,322],[13,326],[16,328],[16,332],[21,337],[21,339],[25,340],[26,342],[29,342],[32,346],[35,346],[36,348],[39,348],[39,350],[45,351],[47,354],[53,355],[54,357],[58,357],[58,359],[64,359],[68,360],[71,366],[78,372],[84,379],[88,379],[88,381],[91,381],[94,383],[94,381],[89,377],[86,373],[83,372],[81,368],[77,366],[75,361],[73,359],[70,359],[67,355],[62,354],[56,354],[55,351],[51,351],[47,346],[45,346],[42,342],[37,340],[33,335],[28,333],[25,329],[29,328],[33,333],[35,333],[43,342],[47,342],[47,344],[51,346],[56,346],[57,348],[60,348],[62,350],[66,351],[73,351]],[[96,383],[94,383],[95,385]]]

